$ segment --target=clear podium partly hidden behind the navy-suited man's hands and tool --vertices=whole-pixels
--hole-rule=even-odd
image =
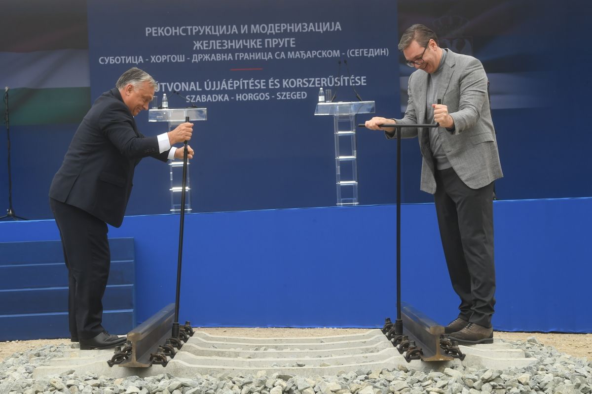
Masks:
[[[185,122],[189,116],[189,122],[207,121],[208,113],[205,108],[164,108],[149,109],[149,122],[168,122],[169,131]],[[191,183],[189,182],[189,165],[187,162],[187,181],[185,184],[185,211],[191,212]],[[172,160],[169,162],[170,174],[170,212],[181,212],[181,191],[183,190],[183,161]]]

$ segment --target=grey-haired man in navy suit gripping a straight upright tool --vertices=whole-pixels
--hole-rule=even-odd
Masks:
[[[133,67],[103,93],[76,130],[49,190],[68,268],[68,317],[72,341],[82,350],[108,349],[125,337],[101,325],[102,297],[109,276],[107,224],[119,227],[130,198],[134,168],[144,157],[182,159],[173,144],[191,139],[192,123],[145,137],[134,116],[148,109],[156,81]],[[188,158],[193,157],[188,147]]]

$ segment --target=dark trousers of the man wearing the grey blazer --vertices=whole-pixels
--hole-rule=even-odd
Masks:
[[[452,168],[436,171],[436,214],[459,317],[491,327],[496,299],[493,183],[469,188]]]

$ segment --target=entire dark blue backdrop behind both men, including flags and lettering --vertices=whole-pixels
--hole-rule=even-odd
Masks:
[[[375,101],[375,115],[400,116],[413,69],[397,43],[414,23],[432,28],[443,47],[477,57],[487,71],[505,175],[496,182],[498,198],[592,196],[592,161],[585,159],[592,133],[584,123],[592,79],[577,69],[592,53],[574,39],[587,26],[577,2],[21,3],[3,4],[14,18],[0,25],[11,38],[0,44],[0,86],[10,87],[12,201],[20,216],[52,217],[47,190],[78,123],[132,66],[155,76],[157,96],[166,93],[171,107],[189,104],[172,93],[178,90],[208,108],[191,142],[193,211],[333,206],[333,119],[313,115],[318,88],[346,101],[356,100],[355,88]],[[146,113],[137,123],[146,135],[165,131]],[[395,202],[395,145],[380,132],[358,130],[360,204]],[[18,154],[24,147],[36,154]],[[2,152],[7,138],[0,138]],[[419,190],[416,140],[403,142],[402,160],[403,201],[433,201]],[[168,213],[169,187],[167,166],[144,160],[126,214]],[[7,171],[0,171],[0,190],[0,206],[7,207]]]

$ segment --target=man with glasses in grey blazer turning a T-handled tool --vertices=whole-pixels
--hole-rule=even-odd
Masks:
[[[461,299],[458,318],[446,325],[461,343],[491,343],[496,279],[493,245],[493,181],[503,176],[487,96],[487,76],[479,60],[440,48],[424,25],[408,28],[398,45],[409,77],[403,119],[383,123],[439,123],[438,128],[402,128],[422,152],[421,190],[434,195],[440,238],[452,287]],[[442,100],[438,104],[437,100]]]

